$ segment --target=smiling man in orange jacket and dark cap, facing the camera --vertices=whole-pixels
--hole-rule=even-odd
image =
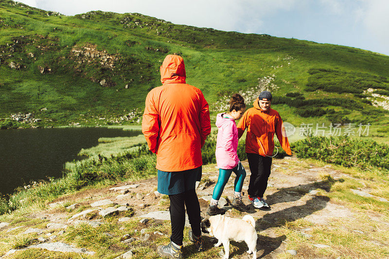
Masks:
[[[256,208],[270,208],[264,199],[264,193],[270,176],[274,134],[286,154],[292,155],[281,116],[270,108],[271,99],[269,91],[262,91],[254,101],[254,107],[245,112],[237,125],[238,138],[247,129],[246,153],[251,171],[248,200]]]

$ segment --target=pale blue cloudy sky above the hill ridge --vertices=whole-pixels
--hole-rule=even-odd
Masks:
[[[389,0],[20,0],[64,15],[141,13],[176,24],[331,43],[389,55]]]

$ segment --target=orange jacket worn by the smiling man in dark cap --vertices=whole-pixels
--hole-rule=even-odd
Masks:
[[[246,153],[273,155],[275,133],[286,154],[292,155],[280,114],[272,108],[262,110],[258,98],[253,105],[254,107],[245,112],[237,125],[238,138],[242,137],[247,129]]]

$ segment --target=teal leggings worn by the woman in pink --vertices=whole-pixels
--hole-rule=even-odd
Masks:
[[[236,192],[242,191],[243,181],[245,180],[246,177],[246,170],[245,168],[243,168],[241,162],[239,162],[239,164],[232,169],[221,169],[221,168],[219,169],[219,178],[217,179],[217,183],[215,185],[215,188],[213,189],[212,199],[214,200],[220,199],[224,187],[226,186],[232,172],[236,174],[234,190]]]

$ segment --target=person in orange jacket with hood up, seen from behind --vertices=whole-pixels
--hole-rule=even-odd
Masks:
[[[203,93],[185,83],[182,57],[167,55],[160,74],[162,86],[146,97],[142,133],[157,155],[158,191],[170,199],[171,242],[157,251],[163,257],[182,258],[185,206],[192,227],[189,239],[203,250],[195,182],[201,179],[201,147],[211,133],[211,121]]]

